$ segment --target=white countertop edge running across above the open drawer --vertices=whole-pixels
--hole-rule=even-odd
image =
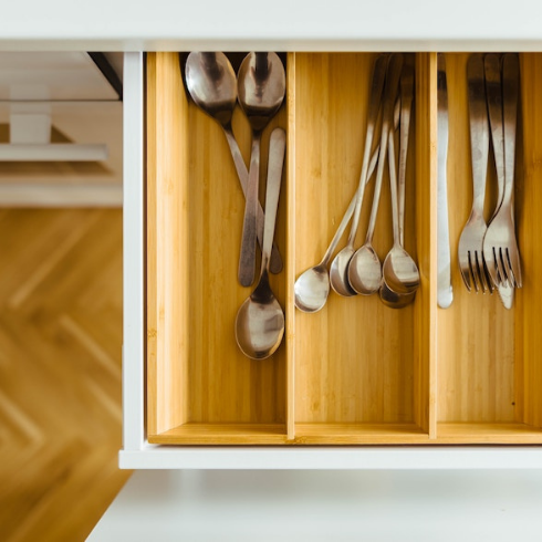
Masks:
[[[0,50],[542,51],[533,0],[28,0],[0,18]]]

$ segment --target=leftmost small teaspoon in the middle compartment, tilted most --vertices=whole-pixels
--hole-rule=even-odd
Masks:
[[[371,165],[367,174],[367,183],[369,181],[373,171],[375,170],[376,164],[378,161],[379,146],[376,147],[373,157],[371,158]],[[330,294],[330,274],[327,272],[327,263],[335,251],[338,241],[343,237],[343,233],[348,226],[348,222],[354,215],[354,209],[356,207],[357,192],[354,194],[352,201],[346,209],[346,212],[338,225],[337,231],[333,237],[327,250],[325,251],[322,261],[314,265],[313,268],[304,271],[293,286],[294,291],[294,302],[295,306],[302,312],[317,312],[320,311],[327,301],[327,295]]]

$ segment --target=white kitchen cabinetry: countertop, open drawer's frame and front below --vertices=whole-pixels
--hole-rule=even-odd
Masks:
[[[32,0],[2,13],[0,51],[125,51],[135,64],[143,51],[540,52],[541,15],[542,6],[532,1],[278,1],[265,11],[240,0],[84,6]],[[142,93],[143,87],[125,90],[127,111],[142,111]],[[133,233],[134,225],[143,225],[142,117],[125,123],[131,233],[125,238],[121,461],[143,470],[90,540],[540,540],[542,452],[536,446],[405,447],[382,455],[363,447],[177,454],[146,444],[143,229]]]

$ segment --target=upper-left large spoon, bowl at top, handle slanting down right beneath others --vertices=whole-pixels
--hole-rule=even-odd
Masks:
[[[185,80],[195,104],[222,126],[242,192],[247,197],[249,171],[231,129],[231,117],[237,105],[237,77],[230,61],[223,53],[191,52],[186,60]],[[257,228],[258,242],[261,247],[263,210],[259,201]],[[277,246],[273,244],[269,269],[272,273],[280,273],[282,268],[282,258]]]

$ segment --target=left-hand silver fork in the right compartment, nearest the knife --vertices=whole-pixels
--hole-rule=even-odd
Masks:
[[[470,148],[472,163],[472,209],[463,227],[458,247],[458,261],[461,278],[469,292],[473,288],[492,292],[483,262],[483,237],[487,231],[483,218],[486,177],[489,156],[489,123],[486,105],[486,84],[483,56],[473,54],[467,64]]]

